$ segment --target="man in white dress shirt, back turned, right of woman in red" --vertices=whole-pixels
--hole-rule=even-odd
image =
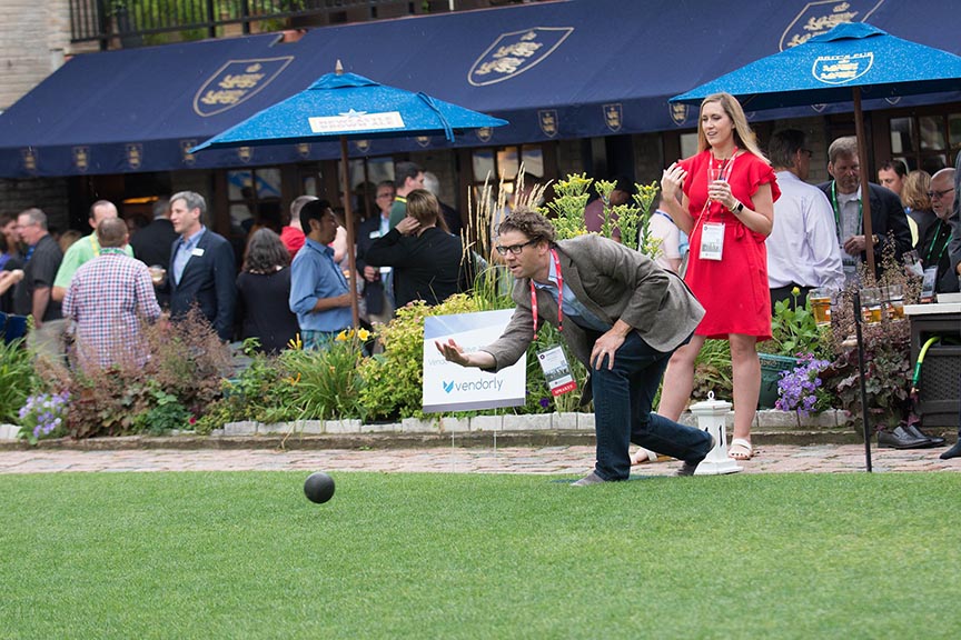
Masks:
[[[803,131],[785,129],[774,133],[767,147],[781,188],[774,229],[765,242],[772,313],[775,302],[793,299],[795,287],[801,291],[797,303],[803,304],[811,289],[844,286],[831,202],[804,182],[811,167],[811,150],[804,143]]]

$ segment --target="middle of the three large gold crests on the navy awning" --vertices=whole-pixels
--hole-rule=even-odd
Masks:
[[[515,78],[543,62],[573,32],[573,27],[534,27],[502,33],[470,67],[467,81],[484,87]]]

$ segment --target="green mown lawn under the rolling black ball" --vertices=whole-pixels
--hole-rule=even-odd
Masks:
[[[961,474],[0,477],[0,638],[957,638]]]

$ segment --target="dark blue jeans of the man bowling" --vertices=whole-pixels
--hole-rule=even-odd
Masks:
[[[651,413],[670,359],[671,352],[657,351],[632,331],[617,349],[613,369],[607,369],[605,358],[600,370],[591,370],[597,434],[594,471],[604,480],[626,480],[631,474],[631,442],[692,462],[711,450],[706,431]]]

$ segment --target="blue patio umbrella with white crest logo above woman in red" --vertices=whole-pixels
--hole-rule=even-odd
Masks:
[[[701,84],[671,102],[700,103],[713,93],[735,96],[747,110],[825,102],[854,102],[861,167],[868,167],[861,98],[894,98],[961,88],[961,57],[895,38],[864,22],[831,31]],[[861,171],[868,192],[868,171]],[[864,234],[871,237],[871,204],[864,199]],[[868,243],[874,272],[874,249]]]

